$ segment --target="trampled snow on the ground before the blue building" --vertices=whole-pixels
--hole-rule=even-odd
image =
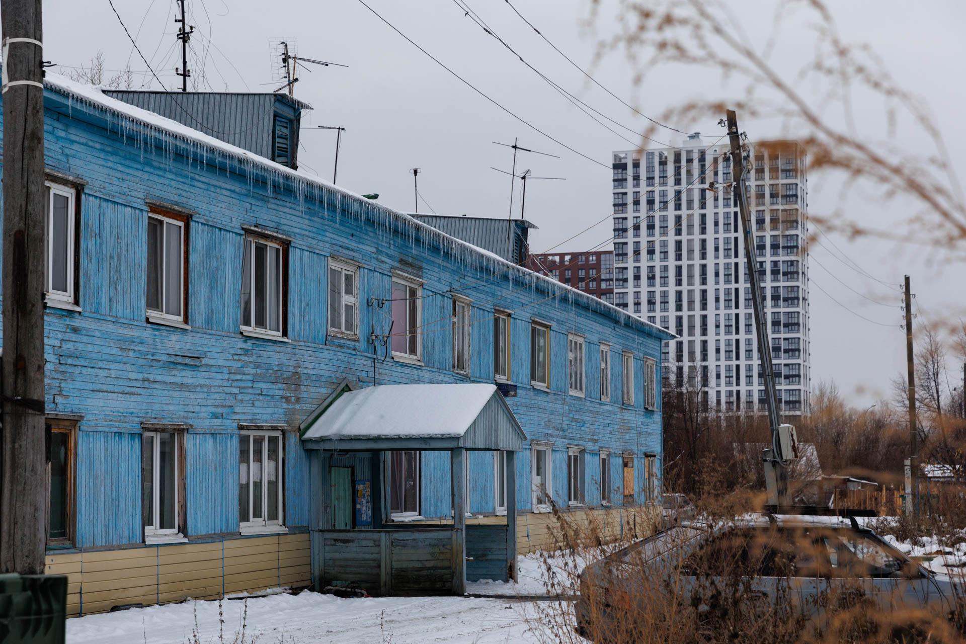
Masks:
[[[241,630],[241,600],[221,602],[225,642]],[[371,644],[388,642],[538,642],[530,631],[532,602],[459,597],[344,600],[302,592],[247,600],[245,644]],[[68,620],[69,644],[218,644],[218,602],[172,603]]]

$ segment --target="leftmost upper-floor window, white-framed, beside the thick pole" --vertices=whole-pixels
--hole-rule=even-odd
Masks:
[[[47,192],[45,292],[47,299],[74,303],[74,262],[77,249],[77,191],[66,185],[44,182]]]

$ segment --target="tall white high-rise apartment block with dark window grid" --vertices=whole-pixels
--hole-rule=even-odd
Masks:
[[[781,412],[792,415],[810,390],[805,161],[795,141],[762,142],[746,173]],[[665,343],[665,376],[687,376],[723,411],[765,403],[732,180],[726,139],[613,154],[613,303],[679,335]]]

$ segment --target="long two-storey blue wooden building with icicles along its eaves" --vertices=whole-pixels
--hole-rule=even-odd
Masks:
[[[526,551],[554,505],[645,529],[666,331],[294,169],[304,104],[259,98],[270,160],[52,74],[44,103],[48,568],[72,614],[353,581],[326,557],[407,547],[339,553],[331,530],[502,525]],[[377,421],[327,442],[341,397],[394,385],[457,387],[407,406],[427,426],[491,393],[445,444]]]

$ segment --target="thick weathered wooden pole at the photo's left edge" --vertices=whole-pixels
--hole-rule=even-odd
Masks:
[[[0,573],[43,574],[47,527],[43,421],[42,0],[2,0],[3,429]]]

